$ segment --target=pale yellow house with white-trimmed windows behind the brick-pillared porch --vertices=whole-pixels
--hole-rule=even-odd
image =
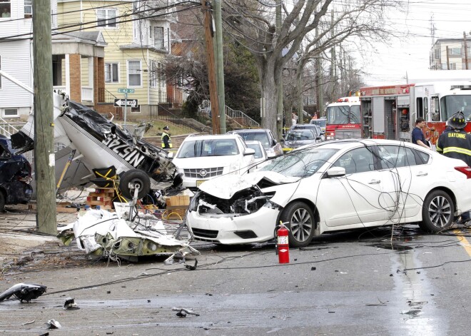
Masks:
[[[100,31],[106,41],[105,87],[98,88],[98,111],[110,111],[115,100],[125,98],[118,90],[128,88],[133,91],[127,96],[128,118],[156,116],[158,103],[167,99],[163,59],[171,48],[168,1],[57,0],[57,13],[61,33]],[[88,69],[82,61],[81,73]],[[129,105],[134,99],[138,106]]]

